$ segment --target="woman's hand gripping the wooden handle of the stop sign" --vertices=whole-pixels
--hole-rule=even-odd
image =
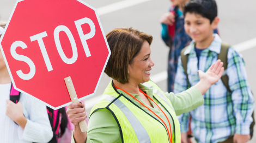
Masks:
[[[79,122],[86,120],[86,109],[81,101],[78,103],[71,103],[68,106],[66,113],[68,114],[72,124],[75,126],[79,126]]]

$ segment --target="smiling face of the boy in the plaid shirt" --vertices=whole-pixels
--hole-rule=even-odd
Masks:
[[[219,18],[215,17],[210,23],[210,19],[199,14],[187,12],[185,15],[184,28],[186,33],[195,41],[203,42],[212,37],[214,29],[217,28]]]

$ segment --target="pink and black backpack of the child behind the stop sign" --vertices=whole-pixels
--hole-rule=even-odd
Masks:
[[[11,83],[10,100],[14,103],[19,102],[21,93],[14,89],[13,83]],[[48,118],[51,123],[53,137],[49,143],[57,143],[58,138],[62,137],[65,132],[66,126],[68,125],[68,117],[66,115],[65,107],[58,110],[53,110],[47,106]],[[59,131],[60,130],[60,131]]]

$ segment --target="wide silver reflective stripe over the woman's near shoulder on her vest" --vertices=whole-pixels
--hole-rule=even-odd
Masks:
[[[115,98],[111,95],[104,94],[102,95],[101,99],[105,99],[109,102],[112,102]],[[121,102],[119,99],[115,100],[114,105],[116,105],[126,116],[128,121],[130,122],[133,130],[135,131],[138,141],[141,143],[148,143],[151,142],[148,132],[146,129],[142,126],[141,122],[136,118],[136,116],[130,111],[130,109],[124,105],[123,102]]]

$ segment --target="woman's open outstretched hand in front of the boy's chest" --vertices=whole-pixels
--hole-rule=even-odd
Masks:
[[[221,79],[221,76],[224,72],[224,68],[222,66],[223,62],[221,62],[221,60],[217,60],[217,62],[212,64],[205,73],[201,70],[198,70],[200,80],[207,81],[210,86],[214,85],[214,83]]]

